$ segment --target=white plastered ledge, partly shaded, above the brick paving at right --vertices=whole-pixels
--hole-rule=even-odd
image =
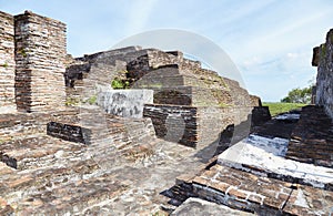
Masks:
[[[260,176],[333,192],[331,168],[284,158],[287,140],[250,135],[219,155],[218,164]],[[313,151],[312,151],[313,152]]]

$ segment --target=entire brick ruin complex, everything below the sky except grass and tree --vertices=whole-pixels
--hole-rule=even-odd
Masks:
[[[271,120],[180,51],[73,59],[62,22],[0,18],[0,215],[332,214],[332,30],[316,105]]]

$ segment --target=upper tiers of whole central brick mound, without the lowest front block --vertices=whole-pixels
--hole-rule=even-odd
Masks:
[[[183,59],[179,51],[130,49],[125,54],[121,53],[121,50],[111,50],[78,58],[78,64],[67,70],[67,84],[73,82],[77,91],[81,88],[78,83],[87,89],[87,83],[110,82],[112,74],[113,78],[128,79],[131,89],[154,90],[157,104],[220,107],[252,105],[248,91],[240,88],[238,82],[202,69],[200,62]],[[124,74],[112,68],[117,61],[124,63]],[[109,65],[112,65],[110,70]],[[72,86],[69,90],[70,94],[74,92]]]

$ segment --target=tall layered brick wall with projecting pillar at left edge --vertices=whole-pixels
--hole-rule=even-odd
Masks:
[[[48,111],[64,104],[65,24],[26,11],[1,16],[1,110]]]

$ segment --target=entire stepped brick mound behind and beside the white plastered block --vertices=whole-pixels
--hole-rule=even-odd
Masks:
[[[68,97],[78,99],[82,90],[85,97],[97,94],[114,79],[132,90],[153,90],[153,104],[144,105],[143,116],[152,119],[159,137],[191,147],[219,142],[228,125],[251,121],[253,107],[261,106],[236,81],[202,69],[180,51],[140,47],[74,59],[65,72]]]

